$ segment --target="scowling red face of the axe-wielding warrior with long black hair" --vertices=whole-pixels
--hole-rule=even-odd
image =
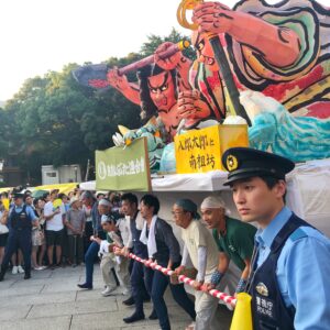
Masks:
[[[169,72],[147,78],[150,96],[158,109],[169,110],[175,103],[175,88]]]

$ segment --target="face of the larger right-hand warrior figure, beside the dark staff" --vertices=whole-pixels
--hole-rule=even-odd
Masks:
[[[197,61],[204,63],[212,72],[218,72],[219,67],[216,63],[212,47],[205,34],[193,32],[193,45],[197,51]]]

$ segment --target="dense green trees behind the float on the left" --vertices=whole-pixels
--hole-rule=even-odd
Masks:
[[[125,66],[152,54],[165,41],[182,38],[175,30],[167,37],[151,35],[140,54],[110,57],[107,64]],[[62,72],[28,79],[4,109],[0,108],[0,158],[14,160],[36,184],[42,165],[85,166],[96,150],[112,146],[118,124],[141,125],[138,106],[112,88],[100,91],[79,85],[72,75],[77,67],[68,64]],[[135,80],[135,73],[129,79]]]

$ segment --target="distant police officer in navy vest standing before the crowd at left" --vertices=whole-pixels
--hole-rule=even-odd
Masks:
[[[8,216],[9,237],[1,264],[0,282],[3,280],[9,261],[18,249],[21,249],[24,257],[24,279],[31,277],[31,234],[32,226],[37,226],[37,218],[33,209],[23,202],[23,194],[16,193],[13,198],[14,205]]]

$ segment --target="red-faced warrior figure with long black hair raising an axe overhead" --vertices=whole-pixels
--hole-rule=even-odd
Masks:
[[[174,54],[169,59],[164,54],[170,50],[176,51],[172,52]],[[80,84],[94,88],[107,86],[116,88],[130,101],[141,107],[143,122],[157,116],[168,133],[168,140],[172,141],[179,122],[183,118],[187,118],[185,111],[178,110],[178,92],[190,89],[188,75],[191,62],[178,50],[176,45],[165,43],[154,55],[125,68],[110,69],[105,64],[89,65],[77,69],[74,75]],[[122,74],[122,72],[131,69],[138,69],[138,82],[130,82],[125,74]],[[205,116],[200,116],[200,118],[205,118]],[[190,124],[196,121],[191,120]]]

